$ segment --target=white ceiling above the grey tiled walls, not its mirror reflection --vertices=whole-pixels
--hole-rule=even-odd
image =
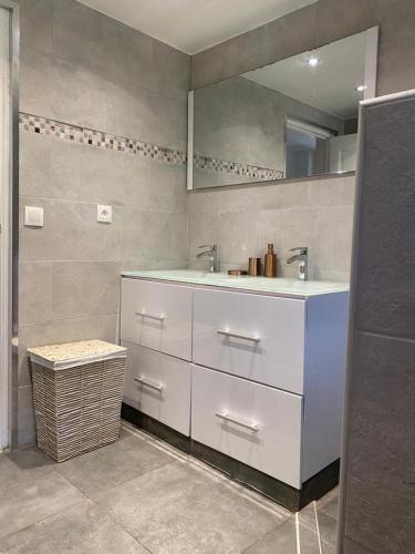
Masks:
[[[80,0],[188,54],[317,0]]]

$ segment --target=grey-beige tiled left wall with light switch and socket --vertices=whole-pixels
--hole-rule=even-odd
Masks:
[[[73,0],[19,3],[21,112],[142,141],[149,152],[131,155],[76,142],[71,133],[28,131],[23,119],[20,209],[44,207],[44,227],[21,222],[22,444],[34,440],[27,347],[116,340],[120,270],[186,264],[186,168],[151,154],[153,146],[186,150],[190,61]],[[96,223],[97,204],[113,206],[111,225]]]

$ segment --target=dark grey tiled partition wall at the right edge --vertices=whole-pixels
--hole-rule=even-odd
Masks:
[[[415,552],[415,95],[365,105],[357,173],[342,537]]]

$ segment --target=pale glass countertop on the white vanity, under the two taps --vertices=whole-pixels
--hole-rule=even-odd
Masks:
[[[276,296],[308,298],[310,296],[329,295],[349,291],[349,283],[324,280],[287,279],[283,277],[235,277],[226,273],[209,273],[195,269],[157,269],[123,271],[123,277],[185,283],[198,286],[210,286],[226,289],[243,289]]]

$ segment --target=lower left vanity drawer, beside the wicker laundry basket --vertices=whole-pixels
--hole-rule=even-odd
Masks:
[[[124,379],[126,404],[189,435],[190,363],[129,342]]]

